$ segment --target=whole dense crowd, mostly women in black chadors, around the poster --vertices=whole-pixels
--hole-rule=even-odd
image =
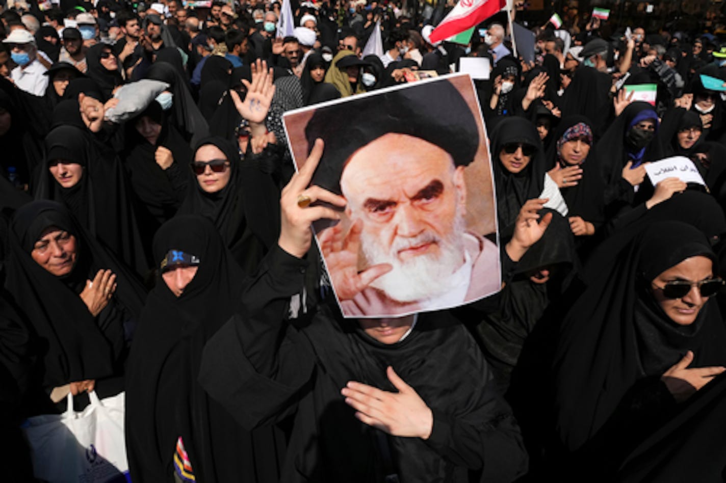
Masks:
[[[707,26],[565,15],[530,29],[526,61],[513,12],[462,45],[431,41],[444,1],[291,3],[292,17],[287,2],[216,0],[0,13],[7,481],[36,481],[23,421],[91,391],[125,391],[135,483],[723,481],[726,44]],[[282,115],[464,57],[489,60],[473,84],[497,231],[472,238],[499,252],[502,273],[484,276],[502,287],[343,318],[310,227],[365,191],[315,173],[326,144],[342,163],[371,140],[341,118],[296,171]],[[410,162],[422,137],[382,145]],[[667,157],[703,184],[653,183]],[[406,196],[450,196],[432,186]],[[427,229],[391,237],[424,252],[411,244]],[[418,256],[436,254],[396,262]],[[348,283],[373,293],[390,270]]]

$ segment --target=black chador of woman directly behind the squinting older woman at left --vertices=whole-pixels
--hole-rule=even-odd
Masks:
[[[54,128],[46,136],[45,145],[46,161],[38,170],[35,198],[62,202],[116,256],[139,274],[146,273],[149,264],[129,197],[126,173],[118,158],[105,156],[88,133],[74,125]],[[83,176],[76,186],[62,188],[55,181],[49,171],[49,163],[55,159],[77,162],[83,167]]]

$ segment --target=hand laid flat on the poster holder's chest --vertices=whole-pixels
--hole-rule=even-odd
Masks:
[[[356,418],[368,426],[393,436],[428,439],[433,429],[431,408],[391,366],[386,369],[386,375],[399,392],[348,381],[340,394],[346,397],[346,404],[356,410]]]

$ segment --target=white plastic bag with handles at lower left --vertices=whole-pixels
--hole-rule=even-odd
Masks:
[[[123,436],[124,396],[100,401],[89,393],[89,404],[73,410],[68,395],[65,413],[33,416],[23,424],[36,478],[54,483],[123,482],[129,472]]]

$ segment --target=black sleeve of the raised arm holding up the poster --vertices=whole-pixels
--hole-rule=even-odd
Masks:
[[[306,393],[314,356],[287,323],[287,302],[300,292],[307,263],[274,247],[234,315],[207,342],[199,382],[245,429],[277,421]]]

